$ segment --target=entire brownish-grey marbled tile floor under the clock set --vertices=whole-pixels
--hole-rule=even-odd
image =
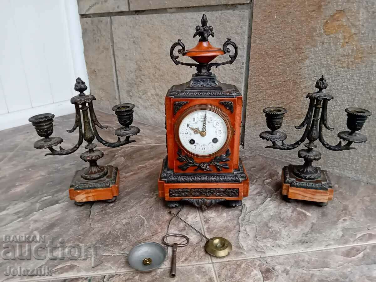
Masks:
[[[115,140],[114,116],[99,113]],[[73,115],[55,119],[62,147],[77,136],[67,133]],[[85,167],[79,149],[68,156],[44,156],[33,148],[38,139],[31,124],[0,132],[0,235],[45,235],[65,247],[92,244],[96,258],[15,259],[0,261],[1,280],[42,281],[376,281],[376,186],[332,175],[334,200],[326,207],[287,203],[280,196],[283,162],[241,151],[250,177],[243,206],[211,206],[203,212],[185,205],[179,216],[208,237],[228,238],[233,251],[224,258],[205,253],[205,240],[171,218],[157,195],[157,178],[166,155],[165,130],[142,123],[136,143],[107,148],[102,164],[120,168],[120,196],[114,203],[75,206],[67,188],[75,170]],[[183,233],[191,242],[178,250],[177,277],[169,278],[171,248],[162,267],[149,273],[133,270],[127,253],[144,241],[160,243],[166,233]],[[35,243],[34,243],[35,244]],[[63,244],[60,242],[60,244]],[[15,243],[13,243],[15,245]],[[3,249],[5,247],[3,246]],[[2,249],[2,251],[3,251]],[[57,255],[53,253],[53,255]],[[49,267],[53,276],[6,276],[10,267]]]

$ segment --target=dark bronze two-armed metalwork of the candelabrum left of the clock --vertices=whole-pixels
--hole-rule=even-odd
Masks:
[[[121,141],[120,137],[118,137],[118,140],[116,142],[108,142],[102,139],[98,133],[96,126],[101,129],[107,129],[107,126],[102,126],[102,124],[100,124],[97,120],[92,105],[92,101],[96,100],[96,98],[93,95],[86,95],[84,93],[86,89],[87,86],[85,85],[85,82],[83,82],[78,77],[76,79],[76,84],[74,85],[74,90],[79,92],[79,95],[74,96],[71,99],[71,103],[76,108],[76,119],[74,121],[73,128],[67,130],[67,132],[71,133],[74,132],[77,127],[79,128],[79,139],[77,141],[77,144],[70,149],[63,149],[62,147],[59,147],[59,150],[55,150],[53,147],[63,142],[63,139],[60,137],[50,137],[53,133],[53,118],[55,117],[55,115],[39,114],[29,118],[29,121],[35,127],[36,133],[38,133],[39,136],[43,137],[42,139],[39,139],[34,143],[34,147],[36,149],[49,149],[51,152],[47,153],[46,156],[63,156],[76,152],[76,150],[81,146],[83,140],[85,140],[88,143],[85,145],[85,149],[87,149],[87,151],[83,152],[80,155],[80,158],[85,162],[89,162],[89,167],[80,170],[79,176],[76,173],[71,184],[71,188],[74,188],[75,191],[99,188],[110,189],[112,185],[116,185],[116,182],[118,182],[118,168],[97,164],[97,161],[103,157],[103,152],[101,150],[95,149],[97,145],[92,143],[92,141],[94,141],[94,139],[96,138],[97,141],[99,141],[103,145],[112,148],[136,142],[135,140],[129,140],[130,136],[136,135],[140,132],[138,127],[130,126],[133,121],[133,108],[135,107],[135,105],[119,104],[112,108],[112,110],[118,117],[119,123],[123,126],[115,130],[115,134],[118,136],[123,136],[125,137],[125,139]],[[80,111],[82,112],[82,116]],[[111,198],[103,199],[103,197],[106,196],[102,195],[100,197],[97,197],[97,199],[109,200],[110,202],[113,202],[116,199],[116,196],[117,195],[112,194]],[[80,199],[81,201],[77,201],[76,199],[75,203],[79,204],[79,202],[85,202],[85,197],[81,197]],[[92,197],[90,199],[95,200]]]

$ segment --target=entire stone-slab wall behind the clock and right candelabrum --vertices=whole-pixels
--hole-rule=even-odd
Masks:
[[[258,137],[267,130],[262,109],[287,108],[282,130],[288,134],[288,142],[296,141],[302,130],[293,126],[305,115],[305,95],[315,91],[315,81],[322,74],[329,83],[327,92],[335,96],[329,102],[328,114],[329,125],[335,130],[324,129],[328,142],[337,144],[337,132],[346,130],[345,108],[358,106],[376,114],[374,1],[77,1],[91,94],[105,112],[111,112],[111,106],[119,102],[135,103],[135,119],[164,126],[167,89],[189,80],[195,72],[173,64],[170,46],[182,38],[186,49],[194,47],[194,28],[205,13],[208,24],[214,27],[212,45],[221,47],[230,37],[239,47],[234,64],[218,67],[215,74],[219,80],[237,85],[247,100],[247,150],[283,159],[286,164],[302,161],[297,158],[298,149],[284,152],[264,148],[267,141]],[[332,152],[319,144],[323,159],[318,165],[375,183],[373,120],[371,116],[366,122],[362,132],[368,142],[356,145],[358,150]]]

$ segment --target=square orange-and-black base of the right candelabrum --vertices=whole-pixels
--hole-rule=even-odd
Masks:
[[[304,180],[293,173],[294,166],[282,169],[282,197],[285,200],[296,199],[317,202],[319,206],[326,206],[333,198],[333,185],[326,170],[321,170],[320,178]]]

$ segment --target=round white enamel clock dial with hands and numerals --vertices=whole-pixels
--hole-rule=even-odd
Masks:
[[[197,109],[183,117],[179,141],[193,155],[208,156],[218,152],[228,139],[228,122],[210,109]]]

